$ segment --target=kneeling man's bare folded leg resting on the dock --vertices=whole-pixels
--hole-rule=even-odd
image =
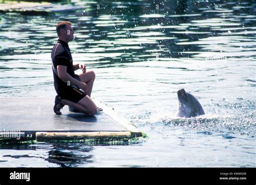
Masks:
[[[65,105],[73,106],[76,110],[85,113],[86,115],[94,115],[97,112],[97,106],[89,96],[85,96],[80,99],[79,102],[71,102],[68,99],[62,99],[62,103]]]

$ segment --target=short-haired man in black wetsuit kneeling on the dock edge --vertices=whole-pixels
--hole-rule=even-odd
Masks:
[[[90,97],[95,73],[92,70],[86,71],[85,65],[81,63],[73,65],[68,45],[74,39],[72,24],[59,22],[56,31],[58,41],[51,52],[54,86],[57,92],[53,111],[60,115],[60,109],[64,105],[70,105],[87,115],[94,115],[98,108]],[[82,73],[76,75],[77,69],[82,69]]]

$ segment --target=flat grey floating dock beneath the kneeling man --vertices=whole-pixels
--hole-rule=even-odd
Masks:
[[[142,132],[119,113],[93,99],[103,111],[94,116],[53,112],[54,98],[2,97],[0,103],[0,140],[75,140],[84,138],[134,138]],[[15,135],[16,133],[16,135]],[[16,136],[16,138],[15,138]]]

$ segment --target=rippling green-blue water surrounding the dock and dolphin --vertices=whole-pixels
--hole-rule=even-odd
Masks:
[[[254,1],[63,6],[76,10],[0,15],[0,96],[55,96],[50,52],[56,23],[69,20],[73,60],[96,72],[92,96],[148,137],[124,145],[1,144],[1,167],[256,166]],[[180,88],[206,115],[175,116]]]

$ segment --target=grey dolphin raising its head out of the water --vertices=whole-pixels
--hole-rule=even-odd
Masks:
[[[184,89],[178,90],[177,95],[179,100],[178,117],[190,118],[205,114],[203,107],[196,97],[190,93],[186,93]]]

